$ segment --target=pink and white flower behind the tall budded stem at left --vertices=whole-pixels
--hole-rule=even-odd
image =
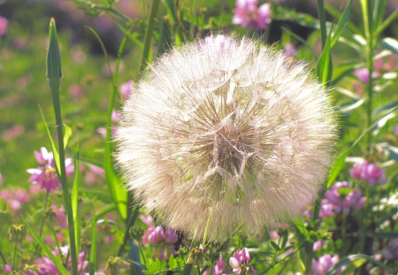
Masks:
[[[46,189],[47,192],[54,192],[57,187],[61,187],[61,183],[58,180],[56,167],[54,163],[54,157],[52,152],[47,151],[44,147],[38,151],[34,151],[34,157],[39,164],[37,168],[27,169],[27,172],[32,174],[29,178],[29,182],[33,184],[40,184],[42,189]],[[65,159],[66,176],[69,177],[74,172],[73,159]]]

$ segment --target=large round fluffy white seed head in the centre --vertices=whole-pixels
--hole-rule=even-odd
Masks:
[[[192,239],[207,228],[208,240],[223,241],[302,213],[325,181],[336,121],[305,65],[218,35],[150,65],[117,133],[143,206]]]

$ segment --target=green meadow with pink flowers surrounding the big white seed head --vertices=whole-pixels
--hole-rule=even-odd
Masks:
[[[242,2],[267,9],[238,24],[234,0],[0,2],[2,274],[231,274],[230,257],[247,251],[250,259],[243,257],[236,273],[398,272],[398,4]],[[47,129],[59,141],[46,73],[50,18],[62,58],[65,155],[74,158],[70,166],[78,174],[66,172],[72,201],[42,149],[54,151]],[[330,88],[340,131],[329,180],[302,218],[203,248],[130,207],[132,195],[113,168],[111,126],[147,61],[210,33],[247,34],[307,63]],[[52,173],[52,181],[33,182],[27,170],[36,167]],[[40,247],[32,231],[41,236]],[[74,252],[71,241],[79,248]]]

